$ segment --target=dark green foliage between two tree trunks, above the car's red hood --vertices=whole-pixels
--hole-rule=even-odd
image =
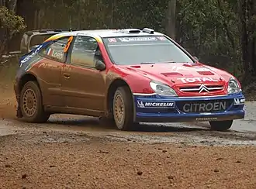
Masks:
[[[224,1],[178,1],[178,39],[206,64],[240,74],[237,15]]]

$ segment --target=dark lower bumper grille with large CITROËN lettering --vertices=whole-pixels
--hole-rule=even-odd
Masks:
[[[208,101],[177,101],[176,105],[181,112],[207,113],[224,112],[232,105],[232,99],[208,100]]]

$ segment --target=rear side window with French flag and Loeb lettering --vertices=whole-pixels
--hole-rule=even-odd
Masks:
[[[40,54],[43,57],[50,58],[52,60],[58,62],[65,61],[65,47],[67,46],[67,42],[70,37],[64,37],[61,40],[57,40],[56,42],[52,43],[50,46],[44,48]]]

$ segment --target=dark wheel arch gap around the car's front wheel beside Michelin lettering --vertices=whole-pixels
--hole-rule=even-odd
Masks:
[[[116,78],[114,81],[112,81],[111,84],[109,84],[109,88],[106,95],[106,113],[108,117],[112,118],[112,102],[113,102],[116,89],[123,86],[126,86],[130,89],[130,85],[126,81],[124,81],[122,78]],[[130,89],[130,95],[133,98],[133,92],[131,89]],[[133,103],[133,109],[134,109],[134,103]]]

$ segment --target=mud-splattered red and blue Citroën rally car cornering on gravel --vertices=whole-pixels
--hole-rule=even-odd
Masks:
[[[17,116],[47,122],[56,113],[138,122],[209,122],[230,129],[244,119],[239,81],[199,63],[154,29],[58,33],[19,60]]]

